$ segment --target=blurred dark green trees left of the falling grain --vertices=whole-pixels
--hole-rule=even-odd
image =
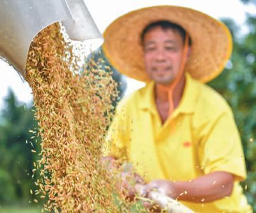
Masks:
[[[31,152],[34,140],[29,129],[36,127],[31,108],[20,105],[12,91],[5,99],[0,117],[0,203],[28,200],[34,189],[31,170],[36,155]],[[31,141],[31,142],[28,142]]]

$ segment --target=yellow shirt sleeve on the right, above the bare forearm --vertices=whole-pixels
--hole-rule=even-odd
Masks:
[[[205,174],[222,171],[234,174],[239,181],[246,179],[243,147],[231,110],[217,115],[202,128],[200,156]]]

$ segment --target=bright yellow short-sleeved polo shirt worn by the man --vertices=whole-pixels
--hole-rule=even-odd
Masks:
[[[232,195],[211,203],[182,202],[195,212],[252,212],[239,180],[246,178],[243,148],[226,101],[186,74],[179,107],[164,124],[154,101],[154,82],[118,105],[109,128],[108,154],[127,159],[148,181],[186,181],[214,171],[236,176]]]

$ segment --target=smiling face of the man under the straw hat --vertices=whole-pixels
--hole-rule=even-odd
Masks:
[[[183,41],[179,32],[155,27],[144,36],[143,55],[148,75],[157,84],[171,84],[179,72]]]

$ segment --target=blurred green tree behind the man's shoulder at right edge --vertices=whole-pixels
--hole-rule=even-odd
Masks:
[[[243,0],[255,3],[254,0]],[[256,16],[248,15],[249,33],[239,34],[233,20],[223,20],[234,41],[230,61],[221,75],[209,83],[232,107],[241,133],[248,179],[243,182],[249,202],[256,211]]]

